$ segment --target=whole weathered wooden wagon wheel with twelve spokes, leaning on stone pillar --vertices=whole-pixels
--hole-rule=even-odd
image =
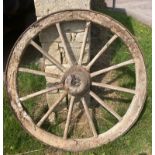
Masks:
[[[80,58],[77,63],[72,60],[70,53],[67,51],[67,46],[64,41],[64,38],[61,35],[61,22],[76,21],[76,20],[85,21],[87,23],[85,37],[80,51]],[[95,23],[105,28],[108,28],[113,33],[113,36],[101,48],[101,50],[97,52],[97,54],[90,60],[90,62],[86,66],[83,66],[81,64],[84,55],[86,38],[88,29],[90,27],[90,23]],[[34,41],[34,37],[50,25],[56,25],[60,37],[62,39],[65,52],[67,52],[67,56],[71,64],[70,69],[68,70]],[[107,48],[117,38],[120,38],[124,42],[124,44],[128,47],[129,52],[132,55],[132,59],[127,60],[125,62],[120,62],[118,64],[103,68],[98,71],[91,72],[90,68],[95,63],[97,63],[98,58],[107,50]],[[46,75],[45,72],[19,68],[21,57],[24,53],[25,48],[29,44],[34,46],[42,55],[44,55],[44,57],[46,57],[51,63],[53,63],[62,72],[63,76],[60,80],[60,83],[55,84],[55,86],[21,97],[18,94],[16,86],[17,85],[16,78],[17,73],[19,71],[28,72],[41,76]],[[136,74],[135,90],[93,81],[94,77],[97,77],[98,75],[109,72],[111,70],[117,70],[127,65],[135,66],[135,74]],[[48,76],[59,77],[58,75],[55,75],[53,73],[49,73]],[[103,144],[106,144],[110,141],[113,141],[122,134],[126,133],[131,128],[131,126],[135,123],[143,108],[143,104],[146,97],[147,79],[146,79],[144,60],[141,51],[136,41],[134,40],[133,36],[127,31],[126,28],[124,28],[120,23],[104,14],[88,10],[69,10],[54,13],[47,17],[44,17],[43,19],[31,25],[21,35],[21,37],[16,42],[14,48],[12,49],[12,53],[8,61],[6,70],[6,84],[7,84],[7,91],[11,100],[11,106],[17,118],[21,122],[22,126],[31,135],[33,135],[35,138],[42,141],[43,143],[56,148],[68,151],[82,151],[95,148]],[[124,116],[121,117],[115,110],[113,110],[107,103],[105,103],[96,94],[96,92],[92,91],[91,90],[92,86],[103,87],[133,94],[132,102],[128,110],[124,114]],[[30,115],[24,110],[22,102],[32,97],[60,88],[65,90],[62,96],[55,103],[53,103],[53,106],[51,106],[48,109],[48,111],[42,116],[41,120],[38,123],[34,123]],[[47,132],[41,126],[47,119],[49,114],[54,110],[56,106],[59,106],[60,102],[68,93],[71,95],[68,116],[64,128],[64,135],[63,137],[59,137],[52,133]],[[109,113],[111,113],[111,115],[113,115],[118,120],[118,122],[108,131],[101,134],[97,132],[93,119],[88,110],[88,104],[87,100],[85,99],[85,94],[90,94],[90,96],[94,98],[94,100],[96,100],[101,105],[102,108],[106,109]],[[86,113],[87,120],[90,125],[90,129],[92,130],[92,137],[76,138],[76,139],[67,137],[73,104],[76,97],[81,98],[81,103],[83,104],[84,111]]]

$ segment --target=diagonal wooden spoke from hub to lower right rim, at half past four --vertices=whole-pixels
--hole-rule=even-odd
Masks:
[[[94,92],[90,91],[90,95],[99,103],[101,104],[108,112],[110,112],[115,118],[119,121],[122,119],[119,114],[117,114],[108,104],[104,103],[103,100],[97,96]]]

